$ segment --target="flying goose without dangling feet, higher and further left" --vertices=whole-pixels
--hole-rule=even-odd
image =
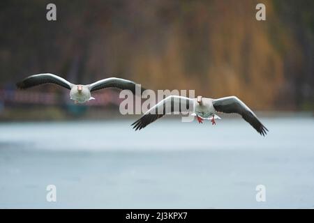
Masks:
[[[66,79],[53,75],[50,73],[31,75],[22,82],[18,82],[17,88],[19,89],[29,89],[32,86],[37,86],[40,84],[57,84],[63,86],[63,88],[70,90],[70,99],[76,103],[84,103],[95,98],[91,97],[91,92],[98,91],[100,89],[115,88],[121,90],[130,90],[135,94],[136,84],[127,79],[121,79],[117,77],[110,77],[106,79],[101,79],[98,82],[88,85],[82,84],[72,84]],[[142,93],[144,89],[140,89]]]

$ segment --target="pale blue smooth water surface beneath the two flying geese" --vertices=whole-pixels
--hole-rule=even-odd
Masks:
[[[2,123],[0,208],[314,208],[314,118],[262,121]]]

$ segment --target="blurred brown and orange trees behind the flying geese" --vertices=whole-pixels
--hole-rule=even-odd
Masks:
[[[53,1],[56,22],[47,3],[0,1],[0,88],[38,72],[77,83],[115,76],[313,111],[314,1]],[[255,20],[257,3],[266,21]]]

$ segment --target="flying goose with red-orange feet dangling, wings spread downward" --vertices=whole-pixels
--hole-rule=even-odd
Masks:
[[[244,102],[235,96],[225,98],[186,98],[177,95],[170,95],[161,100],[154,107],[151,107],[132,125],[135,130],[145,128],[149,123],[156,121],[156,119],[163,117],[165,114],[184,112],[184,109],[193,111],[191,114],[197,117],[197,121],[202,123],[204,119],[211,120],[212,125],[216,125],[215,119],[220,119],[216,113],[237,113],[250,123],[255,130],[261,135],[267,134],[267,128],[258,120],[257,116],[249,109]]]

